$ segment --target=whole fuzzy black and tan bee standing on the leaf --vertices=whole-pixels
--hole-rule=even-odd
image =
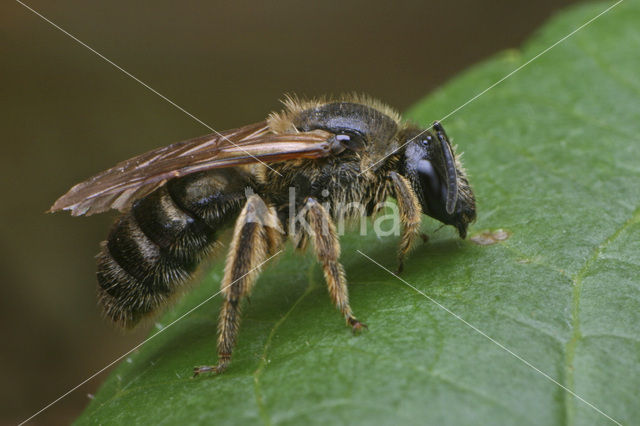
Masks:
[[[396,199],[399,271],[413,241],[424,236],[422,214],[454,226],[461,238],[476,217],[465,170],[440,123],[421,129],[358,95],[291,96],[283,104],[264,121],[121,162],[50,209],[74,216],[122,212],[101,244],[97,279],[104,316],[124,328],[165,306],[219,244],[219,232],[233,226],[217,364],[195,367],[194,375],[229,366],[241,302],[286,238],[299,249],[312,243],[333,304],[354,332],[366,327],[349,305],[337,206],[359,203],[372,215],[388,197]]]

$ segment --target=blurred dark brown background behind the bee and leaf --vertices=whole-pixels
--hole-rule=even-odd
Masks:
[[[518,47],[569,3],[27,2],[218,130],[263,119],[285,92],[359,91],[406,109],[469,65]],[[19,3],[2,2],[0,24],[4,424],[146,335],[122,335],[95,306],[93,256],[114,215],[44,211],[117,161],[209,130]],[[34,423],[72,421],[103,378]]]

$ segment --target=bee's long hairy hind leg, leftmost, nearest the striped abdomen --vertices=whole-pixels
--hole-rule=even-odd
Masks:
[[[218,322],[218,364],[195,367],[194,377],[222,373],[229,366],[240,325],[240,302],[251,292],[259,265],[281,245],[281,232],[275,210],[258,195],[249,196],[236,220],[221,283],[225,300]]]

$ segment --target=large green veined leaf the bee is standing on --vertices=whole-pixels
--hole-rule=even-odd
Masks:
[[[408,114],[429,124],[607,4],[553,18],[521,51],[474,67]],[[471,235],[435,232],[402,278],[617,421],[640,419],[640,6],[603,15],[445,120],[478,199]],[[610,424],[595,408],[356,252],[395,267],[397,238],[342,238],[353,336],[310,256],[268,265],[229,370],[220,297],[131,354],[79,424]],[[221,263],[159,321],[214,294]],[[156,330],[157,331],[157,330]]]

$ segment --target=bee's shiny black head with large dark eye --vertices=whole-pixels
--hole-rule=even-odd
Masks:
[[[432,127],[404,132],[401,142],[408,143],[401,173],[411,182],[422,212],[455,226],[465,238],[469,223],[476,218],[475,198],[444,128],[438,122]]]

